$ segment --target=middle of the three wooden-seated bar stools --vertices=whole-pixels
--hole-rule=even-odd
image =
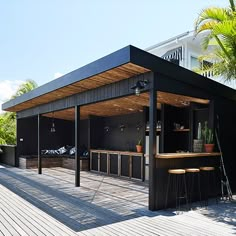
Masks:
[[[196,198],[196,189],[198,192],[198,200],[201,202],[201,184],[200,184],[200,169],[199,168],[187,168],[186,171],[186,181],[187,181],[187,192],[188,201],[190,207],[192,205],[193,197]],[[196,185],[197,184],[197,185]]]

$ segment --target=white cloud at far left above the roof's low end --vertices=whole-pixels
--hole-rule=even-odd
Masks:
[[[0,112],[2,112],[2,104],[9,100],[16,92],[17,88],[24,81],[21,80],[2,80],[0,81]]]

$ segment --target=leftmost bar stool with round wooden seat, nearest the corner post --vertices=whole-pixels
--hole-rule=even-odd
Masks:
[[[169,192],[175,194],[176,210],[180,209],[181,199],[185,199],[185,203],[188,205],[187,186],[185,179],[186,171],[184,169],[169,169],[168,170],[168,183],[166,191],[166,204],[168,204]]]

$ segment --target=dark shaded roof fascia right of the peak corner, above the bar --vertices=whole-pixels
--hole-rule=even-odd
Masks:
[[[236,91],[234,89],[199,75],[191,70],[135,47],[131,48],[130,55],[130,61],[133,64],[150,69],[154,73],[163,74],[171,79],[198,87],[211,95],[222,96],[236,101]]]

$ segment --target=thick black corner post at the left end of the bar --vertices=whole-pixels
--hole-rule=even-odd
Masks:
[[[157,125],[157,76],[153,74],[149,97],[149,210],[155,210],[156,201],[156,125]]]

